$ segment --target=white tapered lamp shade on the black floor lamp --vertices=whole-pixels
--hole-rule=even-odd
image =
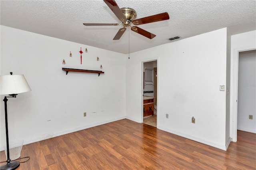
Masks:
[[[1,75],[0,95],[11,95],[31,91],[24,75]]]

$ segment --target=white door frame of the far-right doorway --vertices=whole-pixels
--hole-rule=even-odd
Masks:
[[[231,133],[230,136],[233,142],[237,141],[237,100],[238,100],[238,61],[239,61],[239,52],[250,51],[256,49],[255,46],[240,47],[234,49],[234,61],[233,61],[233,81],[230,81],[230,87],[233,88],[233,96],[230,96],[230,113],[232,114],[231,121]],[[232,76],[232,73],[231,73]]]

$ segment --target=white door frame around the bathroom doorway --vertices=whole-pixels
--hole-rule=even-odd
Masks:
[[[147,63],[147,62],[150,62],[150,61],[156,61],[156,67],[159,68],[159,57],[154,57],[154,58],[150,58],[150,59],[143,59],[143,60],[140,60],[140,123],[143,123],[143,72],[144,72],[144,63]],[[158,82],[159,82],[159,69],[157,70],[157,87],[156,87],[156,90],[157,90],[157,95],[156,95],[156,98],[158,100],[157,102],[157,106],[156,106],[156,128],[158,128],[158,116],[159,116],[159,85],[158,85]]]

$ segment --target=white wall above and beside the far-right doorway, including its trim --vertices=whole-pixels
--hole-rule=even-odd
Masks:
[[[256,49],[256,30],[231,36],[230,136],[237,141],[238,52]]]

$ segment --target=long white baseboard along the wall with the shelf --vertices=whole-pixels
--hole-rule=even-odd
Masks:
[[[84,130],[86,128],[91,128],[91,127],[96,127],[96,126],[99,126],[99,125],[104,125],[106,123],[119,121],[119,120],[122,120],[122,119],[125,119],[125,117],[120,117],[120,118],[117,118],[117,119],[111,119],[111,120],[108,120],[108,121],[94,123],[94,124],[91,124],[91,125],[86,125],[86,126],[83,126],[83,127],[70,129],[70,130],[67,130],[67,131],[57,132],[57,133],[49,134],[49,135],[46,135],[46,136],[40,136],[40,137],[32,138],[32,139],[29,139],[29,140],[24,140],[23,145],[38,142],[38,141],[41,141],[41,140],[46,140],[46,139],[49,139],[49,138],[54,138],[56,136],[61,136],[63,134],[68,134],[68,133],[76,132],[76,131],[79,131],[79,130]],[[3,146],[0,148],[0,151],[2,151],[2,150],[4,150]]]

